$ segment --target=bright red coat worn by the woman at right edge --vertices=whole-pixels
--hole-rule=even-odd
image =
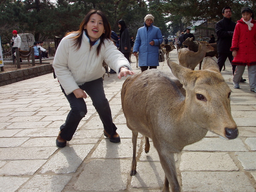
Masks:
[[[254,26],[249,31],[243,18],[237,21],[230,48],[230,51],[237,50],[237,55],[232,61],[234,65],[256,65],[256,21],[252,19],[251,23]]]

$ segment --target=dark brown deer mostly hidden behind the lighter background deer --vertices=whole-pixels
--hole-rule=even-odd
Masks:
[[[193,38],[187,38],[184,42],[183,42],[184,45],[188,46],[189,50],[190,51],[194,51],[194,52],[198,52],[198,48],[199,48],[199,44],[196,44],[194,41],[193,41]],[[210,52],[207,52],[205,54],[205,57],[216,57],[218,58],[218,49],[217,49],[217,43],[214,43],[214,44],[209,44],[210,46],[212,46],[214,48],[214,51],[210,51]],[[200,61],[199,63],[199,70],[201,70],[201,66],[202,66],[202,61]],[[225,64],[224,64],[224,70],[225,70]]]

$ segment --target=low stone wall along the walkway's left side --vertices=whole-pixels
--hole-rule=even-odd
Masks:
[[[0,86],[46,75],[48,73],[53,73],[52,64],[46,64],[38,67],[31,67],[29,69],[0,73]]]

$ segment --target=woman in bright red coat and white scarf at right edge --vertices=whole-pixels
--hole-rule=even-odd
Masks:
[[[232,64],[237,65],[233,85],[235,89],[240,88],[239,82],[247,65],[250,90],[256,92],[256,21],[249,7],[243,8],[241,14],[230,48],[234,57]]]

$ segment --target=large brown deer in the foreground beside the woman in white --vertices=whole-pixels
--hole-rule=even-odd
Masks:
[[[231,115],[230,87],[213,58],[205,58],[203,70],[192,71],[167,60],[172,73],[147,70],[128,77],[121,90],[126,125],[132,131],[133,157],[130,175],[137,173],[138,133],[145,136],[145,153],[153,141],[165,173],[163,191],[180,191],[174,153],[198,142],[211,131],[231,140],[238,136]],[[136,90],[136,92],[134,92]]]

